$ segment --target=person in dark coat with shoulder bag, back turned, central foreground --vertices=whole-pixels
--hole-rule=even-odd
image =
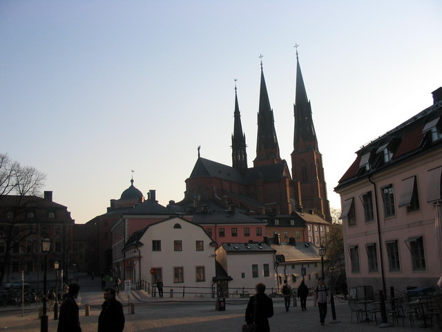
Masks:
[[[265,294],[265,284],[257,284],[255,291],[247,304],[246,322],[256,324],[255,332],[270,332],[268,318],[273,316],[273,301]]]

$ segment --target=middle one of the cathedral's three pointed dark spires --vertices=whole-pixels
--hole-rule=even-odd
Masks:
[[[256,158],[254,166],[269,165],[281,161],[279,153],[278,138],[276,138],[275,120],[273,110],[270,107],[269,94],[265,84],[264,71],[262,70],[261,58],[261,86],[260,106],[258,110],[258,138],[256,142]]]

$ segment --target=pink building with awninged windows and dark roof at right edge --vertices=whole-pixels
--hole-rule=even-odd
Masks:
[[[442,275],[442,88],[434,104],[357,152],[335,191],[349,288],[436,286]]]

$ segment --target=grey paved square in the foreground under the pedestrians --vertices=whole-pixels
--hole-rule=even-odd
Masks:
[[[83,332],[96,332],[97,321],[102,303],[102,291],[99,282],[92,284],[86,280],[80,280],[81,288],[81,326]],[[126,332],[226,332],[240,331],[244,321],[246,301],[242,299],[227,299],[226,311],[215,310],[215,299],[180,299],[164,297],[163,299],[151,298],[142,291],[134,291],[132,302],[135,305],[135,314],[128,314],[128,297],[124,292],[119,293],[119,300],[124,304],[126,313]],[[302,312],[300,307],[290,308],[285,312],[282,298],[275,298],[275,315],[270,319],[271,331],[316,331],[318,329],[339,332],[362,332],[376,331],[379,329],[374,322],[356,323],[350,322],[349,306],[346,302],[336,303],[336,322],[332,320],[329,310],[325,326],[320,326],[317,308],[313,306],[311,299],[307,300],[307,311]],[[85,316],[84,304],[91,304],[90,315]],[[49,331],[57,331],[57,321],[53,320],[53,313],[48,313]],[[38,319],[38,307],[26,308],[22,317],[21,308],[10,306],[0,309],[0,328],[3,331],[37,332],[40,331]],[[394,326],[389,332],[396,331],[419,331],[419,327],[410,325]]]

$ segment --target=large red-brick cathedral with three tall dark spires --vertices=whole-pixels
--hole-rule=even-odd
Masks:
[[[291,152],[291,172],[281,159],[273,120],[273,109],[261,62],[258,109],[258,137],[253,167],[247,163],[246,136],[242,131],[238,93],[235,88],[233,134],[231,136],[232,165],[223,165],[202,158],[189,178],[180,202],[171,201],[168,208],[184,213],[228,210],[254,215],[259,219],[271,216],[314,215],[317,221],[330,223],[329,201],[324,178],[322,155],[311,117],[304,80],[296,52],[296,97],[294,104],[294,149]],[[320,222],[319,222],[320,223]],[[313,242],[315,242],[313,240]]]

